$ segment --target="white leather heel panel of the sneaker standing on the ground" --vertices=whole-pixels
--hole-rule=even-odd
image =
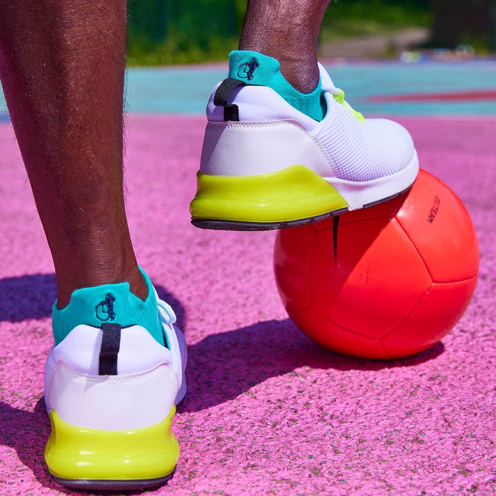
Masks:
[[[149,427],[169,414],[179,384],[162,364],[131,375],[90,375],[59,364],[48,391],[49,405],[77,427],[121,431]]]

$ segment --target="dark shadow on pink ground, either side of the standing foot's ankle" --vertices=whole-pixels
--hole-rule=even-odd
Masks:
[[[162,286],[155,286],[159,298],[165,300],[177,314],[178,325],[185,322],[184,307]],[[52,316],[57,299],[55,274],[30,274],[0,279],[0,321],[20,322],[29,318]]]

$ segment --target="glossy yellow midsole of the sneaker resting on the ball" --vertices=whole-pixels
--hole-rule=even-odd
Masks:
[[[285,222],[346,208],[325,179],[303,165],[256,176],[209,176],[198,172],[193,219]]]

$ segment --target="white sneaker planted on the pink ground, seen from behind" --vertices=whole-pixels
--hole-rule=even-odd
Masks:
[[[174,474],[171,425],[186,394],[186,341],[174,311],[155,297],[167,347],[142,326],[104,323],[74,327],[50,351],[45,461],[64,486],[134,490]]]

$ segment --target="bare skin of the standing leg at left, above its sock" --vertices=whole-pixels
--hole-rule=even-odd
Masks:
[[[0,0],[0,78],[54,259],[58,308],[127,281],[141,299],[123,195],[126,0]]]

